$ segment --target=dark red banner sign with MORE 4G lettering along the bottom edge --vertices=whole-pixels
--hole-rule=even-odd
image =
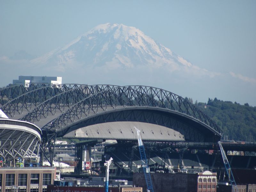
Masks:
[[[108,188],[108,191],[119,192],[118,188]],[[105,192],[104,187],[61,187],[61,186],[47,186],[47,192]]]

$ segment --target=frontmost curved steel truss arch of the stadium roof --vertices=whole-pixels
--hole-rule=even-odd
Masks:
[[[114,87],[90,95],[46,124],[42,130],[60,132],[98,114],[137,107],[167,109],[172,113],[180,113],[203,123],[219,136],[222,134],[221,129],[188,100],[163,89],[138,85]]]

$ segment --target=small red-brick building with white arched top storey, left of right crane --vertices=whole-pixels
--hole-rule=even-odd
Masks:
[[[217,173],[198,173],[197,192],[216,192]]]

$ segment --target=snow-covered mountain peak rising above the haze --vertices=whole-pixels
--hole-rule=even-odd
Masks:
[[[76,66],[108,69],[165,66],[170,71],[192,66],[139,29],[110,23],[98,25],[66,46],[31,62],[45,67],[55,66],[59,71]]]

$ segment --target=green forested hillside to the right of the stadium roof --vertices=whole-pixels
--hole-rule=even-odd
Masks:
[[[195,105],[222,128],[223,136],[228,136],[228,140],[256,142],[256,107],[217,98],[209,98],[207,104],[196,101]]]

